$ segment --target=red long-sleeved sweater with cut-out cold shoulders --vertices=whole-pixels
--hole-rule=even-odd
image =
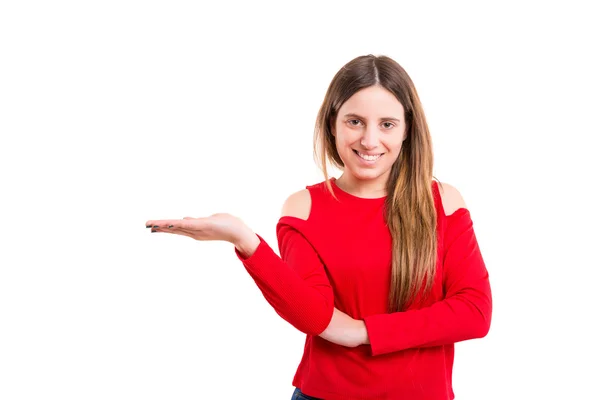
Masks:
[[[385,198],[355,197],[331,182],[341,203],[321,182],[306,187],[307,220],[281,217],[281,257],[260,235],[247,259],[235,251],[275,311],[306,333],[292,384],[326,400],[454,399],[454,343],[485,336],[492,313],[469,210],[446,216],[432,181],[439,243],[434,287],[418,306],[388,313],[392,239]],[[369,345],[348,348],[318,336],[334,306],[365,321]]]

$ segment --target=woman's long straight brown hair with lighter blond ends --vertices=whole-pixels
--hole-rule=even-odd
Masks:
[[[436,208],[432,193],[433,150],[425,113],[415,86],[396,61],[372,54],[344,65],[331,81],[317,115],[314,156],[335,194],[327,161],[342,169],[332,134],[337,113],[354,93],[379,85],[404,107],[407,137],[391,168],[385,201],[386,222],[392,235],[392,277],[389,312],[405,311],[433,284],[437,261]]]

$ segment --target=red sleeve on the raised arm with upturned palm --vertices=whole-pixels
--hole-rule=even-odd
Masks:
[[[281,257],[257,236],[256,251],[244,258],[235,249],[238,258],[279,316],[303,333],[321,334],[333,316],[333,289],[318,254],[288,225],[277,228]]]

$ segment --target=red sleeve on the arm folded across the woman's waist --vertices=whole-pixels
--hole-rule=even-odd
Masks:
[[[373,356],[487,335],[490,283],[466,208],[447,217],[445,240],[444,300],[422,309],[365,317]]]

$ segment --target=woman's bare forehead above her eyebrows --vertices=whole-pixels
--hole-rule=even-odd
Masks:
[[[356,113],[365,117],[389,116],[401,118],[404,107],[390,91],[381,86],[370,86],[354,93],[342,105],[339,115]]]

